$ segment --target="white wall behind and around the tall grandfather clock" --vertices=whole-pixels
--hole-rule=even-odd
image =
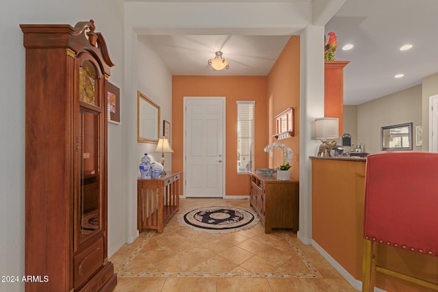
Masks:
[[[103,33],[116,66],[110,82],[123,86],[123,2],[14,0],[3,1],[0,10],[0,275],[24,275],[25,243],[25,48],[21,23],[75,25],[93,19]],[[121,96],[122,101],[124,96]],[[122,119],[125,117],[122,117]],[[123,122],[123,121],[122,121]],[[122,125],[109,126],[108,249],[125,241],[123,220]],[[35,149],[38,151],[38,149]],[[122,222],[118,222],[121,220]],[[24,291],[24,283],[0,282],[0,291]]]

